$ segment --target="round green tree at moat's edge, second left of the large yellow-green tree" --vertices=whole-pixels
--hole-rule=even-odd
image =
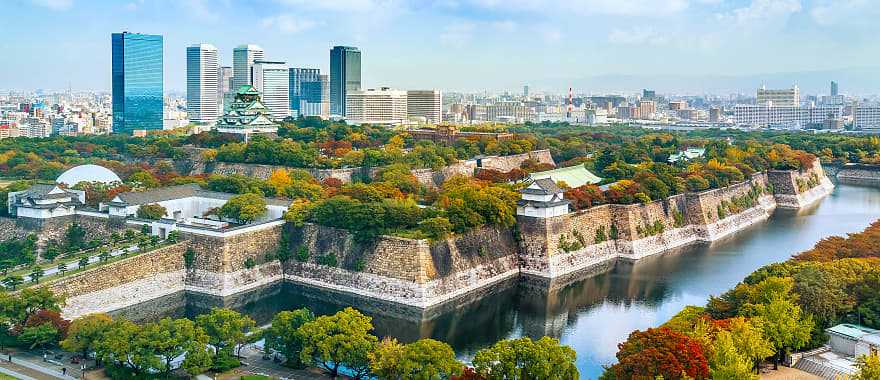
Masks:
[[[208,334],[208,344],[217,349],[217,354],[225,351],[230,355],[237,346],[247,342],[248,332],[256,326],[250,317],[225,308],[214,308],[196,317],[196,324]]]

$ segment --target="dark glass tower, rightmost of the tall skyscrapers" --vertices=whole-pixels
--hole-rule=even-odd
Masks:
[[[330,112],[346,116],[349,91],[361,89],[361,51],[351,46],[330,50]]]

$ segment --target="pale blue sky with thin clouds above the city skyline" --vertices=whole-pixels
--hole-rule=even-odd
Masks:
[[[529,84],[563,93],[557,87],[597,76],[864,69],[880,66],[877,3],[0,0],[0,89],[109,90],[110,34],[120,31],[164,36],[166,92],[185,89],[194,43],[217,46],[223,65],[236,45],[251,43],[267,59],[322,72],[332,45],[357,46],[365,87],[447,91]]]

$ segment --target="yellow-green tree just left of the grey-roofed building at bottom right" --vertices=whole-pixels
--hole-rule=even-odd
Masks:
[[[788,350],[801,348],[810,341],[813,317],[802,316],[800,306],[792,301],[776,297],[768,304],[756,305],[755,319],[776,350],[774,368],[779,367]]]

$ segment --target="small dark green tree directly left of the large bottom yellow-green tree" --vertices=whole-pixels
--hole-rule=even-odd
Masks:
[[[282,311],[272,318],[272,325],[263,331],[266,347],[281,352],[287,359],[289,367],[303,368],[302,352],[303,337],[299,328],[315,319],[309,309]]]

